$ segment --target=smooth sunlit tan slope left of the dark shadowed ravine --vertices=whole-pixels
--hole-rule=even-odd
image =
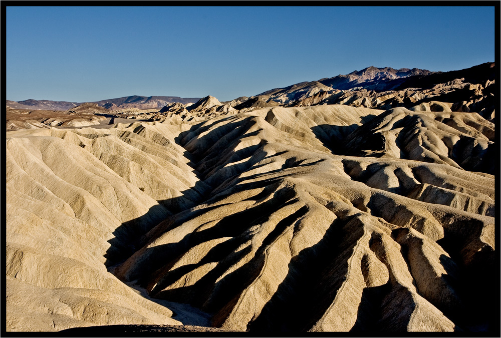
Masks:
[[[173,141],[179,132],[134,124],[7,139],[9,330],[179,323],[105,266],[200,198],[203,184],[190,189],[195,174]]]

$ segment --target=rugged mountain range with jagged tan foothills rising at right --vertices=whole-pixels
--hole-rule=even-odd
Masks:
[[[284,107],[342,104],[382,110],[406,107],[476,112],[493,123],[495,77],[493,62],[450,72],[371,66],[347,75],[275,88],[241,100],[235,108],[253,110],[277,104]]]

